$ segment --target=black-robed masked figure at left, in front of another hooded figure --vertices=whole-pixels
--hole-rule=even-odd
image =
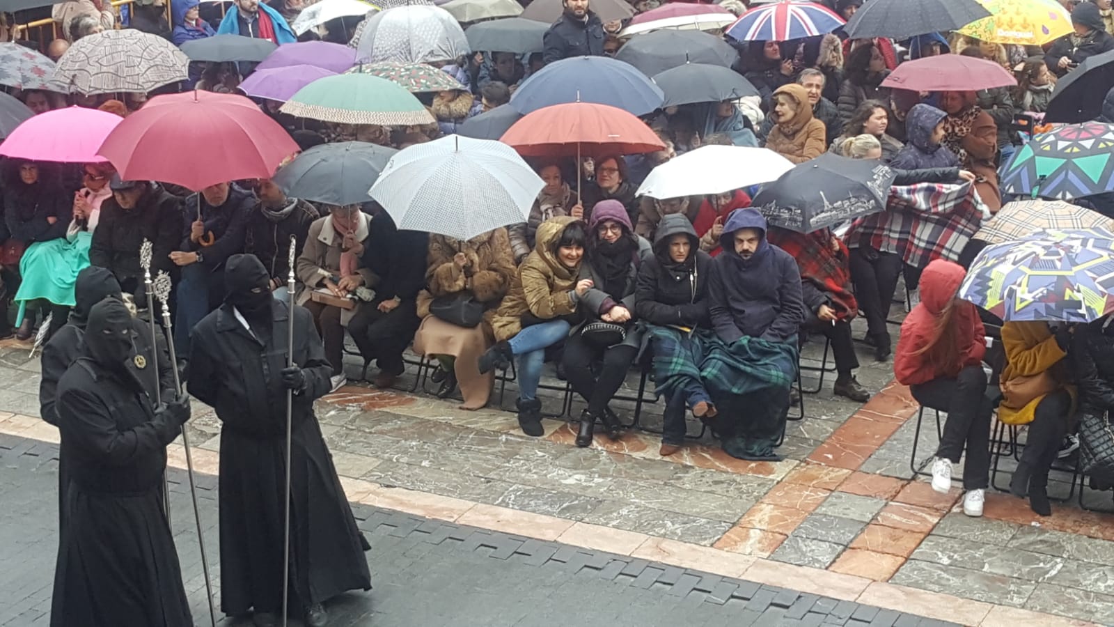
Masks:
[[[128,364],[145,366],[119,300],[92,307],[82,356],[58,382],[68,522],[58,542],[51,627],[192,627],[160,489],[166,445],[189,399],[154,408]],[[139,368],[144,369],[144,368]]]

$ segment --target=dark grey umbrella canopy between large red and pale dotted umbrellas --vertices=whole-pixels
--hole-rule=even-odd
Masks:
[[[274,175],[287,196],[335,205],[368,202],[387,162],[399,151],[367,142],[339,142],[313,146]]]

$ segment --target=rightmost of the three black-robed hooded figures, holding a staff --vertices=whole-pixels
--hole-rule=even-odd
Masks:
[[[194,329],[189,393],[221,418],[221,609],[254,608],[257,626],[283,611],[286,390],[292,396],[290,607],[325,625],[322,601],[371,588],[369,548],[356,529],[325,447],[313,402],[329,393],[332,366],[301,307],[271,296],[271,276],[251,254],[225,270],[224,303]],[[286,367],[294,317],[294,366]]]

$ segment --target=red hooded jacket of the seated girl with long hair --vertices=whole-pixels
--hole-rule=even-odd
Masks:
[[[944,307],[956,297],[966,271],[962,266],[937,259],[920,276],[920,302],[901,322],[901,336],[893,355],[893,376],[898,383],[915,385],[940,377],[954,377],[965,366],[977,365],[986,355],[986,331],[978,310],[969,302],[957,306],[951,326],[946,331],[959,347],[959,364],[950,368],[929,363],[925,355],[913,355],[925,347],[936,330],[936,320]]]

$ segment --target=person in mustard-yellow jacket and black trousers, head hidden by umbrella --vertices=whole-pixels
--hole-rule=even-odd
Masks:
[[[1001,370],[1003,401],[998,419],[1012,425],[1029,425],[1022,460],[1009,482],[1015,496],[1029,499],[1040,515],[1051,515],[1048,470],[1071,421],[1074,389],[1066,385],[1064,357],[1071,344],[1069,328],[1055,334],[1047,322],[1006,322],[1001,344],[1006,367]]]

